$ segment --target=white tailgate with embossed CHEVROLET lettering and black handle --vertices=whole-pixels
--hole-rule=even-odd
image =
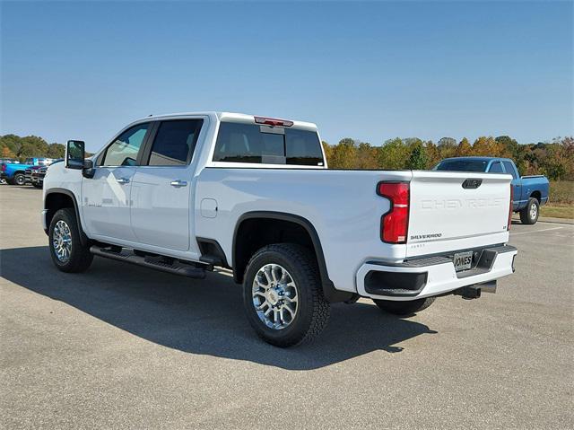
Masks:
[[[510,175],[413,171],[406,257],[508,241]]]

